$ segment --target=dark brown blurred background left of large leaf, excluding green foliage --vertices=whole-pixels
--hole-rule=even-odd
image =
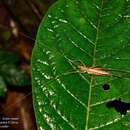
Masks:
[[[37,29],[54,1],[56,0],[0,0],[0,51],[16,55],[19,59],[16,67],[30,78],[31,54]],[[0,56],[1,58],[5,57]],[[8,66],[8,62],[6,64]],[[6,71],[9,73],[11,70]],[[20,88],[7,84],[6,95],[0,97],[0,123],[17,118],[17,124],[9,123],[8,128],[0,129],[37,130],[31,88],[31,80],[29,85]]]

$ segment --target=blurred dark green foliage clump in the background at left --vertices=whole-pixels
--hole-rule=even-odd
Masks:
[[[18,57],[10,52],[0,51],[0,96],[6,92],[8,87],[15,89],[22,88],[30,84],[30,77],[18,65]]]

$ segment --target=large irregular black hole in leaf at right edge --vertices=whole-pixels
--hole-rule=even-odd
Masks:
[[[127,111],[130,110],[130,103],[126,103],[119,100],[110,101],[106,104],[107,108],[115,108],[121,115],[126,115]]]

